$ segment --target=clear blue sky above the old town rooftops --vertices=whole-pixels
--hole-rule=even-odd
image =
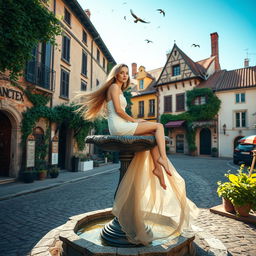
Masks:
[[[255,0],[78,0],[117,63],[136,62],[146,70],[164,66],[178,47],[192,60],[210,57],[210,34],[219,34],[222,69],[242,68],[248,56],[256,65]],[[165,17],[156,11],[161,8]],[[130,9],[149,24],[133,22]],[[126,16],[126,20],[124,19]],[[145,39],[153,43],[147,44]],[[199,44],[200,48],[191,47]]]

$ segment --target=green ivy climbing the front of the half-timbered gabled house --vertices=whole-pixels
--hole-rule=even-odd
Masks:
[[[191,91],[187,91],[186,95],[188,111],[178,115],[163,114],[160,117],[160,121],[165,125],[170,121],[185,120],[186,139],[189,151],[193,152],[196,150],[196,129],[193,127],[193,122],[212,120],[220,109],[221,101],[209,88],[194,88]],[[205,97],[206,103],[202,105],[195,105],[194,100],[201,96]],[[165,129],[165,132],[167,134],[167,129]]]

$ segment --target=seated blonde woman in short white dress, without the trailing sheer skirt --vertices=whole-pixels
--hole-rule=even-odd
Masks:
[[[97,91],[88,94],[86,98],[85,118],[92,120],[108,110],[108,126],[112,135],[152,135],[157,146],[151,150],[155,168],[152,172],[158,177],[161,186],[166,189],[161,166],[171,176],[168,169],[165,151],[164,128],[160,123],[134,119],[125,112],[126,100],[123,91],[130,84],[128,67],[125,64],[116,65],[110,72],[107,81]]]

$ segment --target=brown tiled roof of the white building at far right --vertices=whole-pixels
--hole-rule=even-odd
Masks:
[[[220,70],[211,75],[197,88],[211,88],[214,91],[256,87],[256,66],[234,70]]]

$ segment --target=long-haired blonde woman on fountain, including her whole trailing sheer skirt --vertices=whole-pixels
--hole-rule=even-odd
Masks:
[[[156,138],[157,145],[150,153],[136,153],[113,207],[128,239],[146,245],[188,228],[190,219],[197,216],[197,208],[186,198],[184,180],[168,161],[163,125],[134,119],[125,112],[123,91],[130,84],[128,72],[127,65],[116,65],[98,90],[83,96],[79,110],[88,120],[107,115],[111,135],[154,134]],[[154,175],[163,189],[156,184]]]

